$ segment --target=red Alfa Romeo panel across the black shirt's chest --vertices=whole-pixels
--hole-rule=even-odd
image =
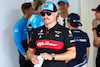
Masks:
[[[36,48],[50,48],[50,49],[62,49],[64,46],[63,42],[54,40],[37,40],[35,42]]]

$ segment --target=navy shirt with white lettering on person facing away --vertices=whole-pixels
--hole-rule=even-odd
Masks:
[[[69,61],[66,67],[82,67],[87,64],[86,48],[90,47],[89,38],[87,33],[79,29],[72,29],[71,31],[76,44],[76,58]]]

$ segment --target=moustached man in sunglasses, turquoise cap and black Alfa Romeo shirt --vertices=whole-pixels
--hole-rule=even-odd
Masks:
[[[33,64],[39,64],[38,56],[42,56],[42,67],[66,67],[65,60],[76,56],[71,31],[57,23],[57,8],[52,2],[43,3],[40,14],[44,26],[33,30],[27,55]]]

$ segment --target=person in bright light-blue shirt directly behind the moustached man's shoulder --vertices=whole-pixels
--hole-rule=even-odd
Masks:
[[[28,19],[28,22],[27,22],[27,29],[28,29],[27,43],[28,44],[29,44],[29,38],[30,38],[32,30],[44,25],[44,22],[42,20],[42,17],[40,16],[39,12],[41,10],[41,5],[45,1],[46,0],[34,0],[31,3],[34,14]]]

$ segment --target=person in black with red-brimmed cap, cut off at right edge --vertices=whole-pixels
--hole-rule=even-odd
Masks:
[[[92,21],[92,30],[94,36],[93,45],[94,47],[98,47],[96,67],[100,67],[100,4],[97,8],[92,9],[92,11],[95,11],[95,19]]]

